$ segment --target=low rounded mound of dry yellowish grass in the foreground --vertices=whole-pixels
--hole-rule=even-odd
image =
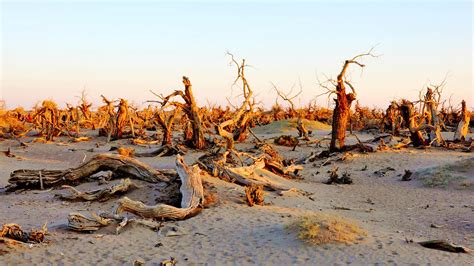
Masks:
[[[367,232],[354,222],[336,215],[318,213],[298,217],[287,229],[298,234],[298,238],[311,244],[354,244],[367,236]]]

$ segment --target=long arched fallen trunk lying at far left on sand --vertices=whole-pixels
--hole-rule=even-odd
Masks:
[[[10,174],[9,189],[39,189],[63,184],[77,184],[83,179],[101,171],[112,171],[116,176],[130,176],[147,182],[168,182],[169,174],[160,172],[136,159],[114,155],[100,154],[76,168],[66,170],[15,170]]]

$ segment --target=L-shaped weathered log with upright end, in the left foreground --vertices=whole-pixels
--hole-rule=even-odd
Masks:
[[[130,212],[145,218],[183,220],[199,213],[204,200],[200,169],[195,166],[190,169],[182,156],[176,156],[176,170],[181,179],[182,194],[181,208],[167,204],[148,206],[139,201],[124,197],[119,200],[117,213]]]

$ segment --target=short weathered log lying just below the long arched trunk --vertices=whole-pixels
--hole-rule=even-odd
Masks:
[[[71,191],[70,195],[58,194],[58,197],[64,200],[84,200],[84,201],[105,201],[115,196],[116,194],[125,193],[135,188],[139,188],[138,185],[133,183],[129,178],[120,180],[120,183],[115,184],[111,187],[98,189],[90,192],[81,192],[74,187],[64,185],[64,188],[68,188]]]

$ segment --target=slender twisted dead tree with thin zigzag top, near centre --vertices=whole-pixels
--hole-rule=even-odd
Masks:
[[[243,140],[242,135],[246,134],[248,130],[248,123],[250,115],[253,112],[253,102],[251,102],[251,98],[253,95],[253,91],[250,88],[250,85],[245,78],[245,59],[242,60],[242,63],[239,64],[235,59],[234,55],[231,53],[227,53],[230,55],[232,63],[237,67],[237,78],[234,81],[234,84],[237,81],[242,81],[242,95],[244,97],[244,101],[242,105],[235,111],[232,118],[220,123],[217,125],[216,131],[219,136],[226,140],[226,150],[233,150],[234,149],[234,140]],[[229,128],[235,128],[233,130],[234,133],[229,131]]]

